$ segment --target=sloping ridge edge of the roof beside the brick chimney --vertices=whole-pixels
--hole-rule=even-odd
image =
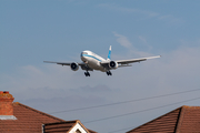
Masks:
[[[40,114],[42,114],[42,115],[47,115],[47,116],[52,117],[52,119],[54,119],[54,120],[64,121],[64,120],[62,120],[62,119],[56,117],[56,116],[50,115],[50,114],[48,114],[48,113],[41,112],[41,111],[36,110],[36,109],[33,109],[33,108],[30,108],[30,106],[28,106],[28,105],[24,105],[24,104],[22,104],[22,103],[20,103],[20,102],[13,102],[12,104],[21,105],[21,106],[23,106],[23,108],[26,108],[26,109],[32,110],[32,111],[34,111],[34,112],[37,112],[37,113],[40,113]]]

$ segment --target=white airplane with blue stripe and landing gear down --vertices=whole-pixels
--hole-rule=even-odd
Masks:
[[[129,60],[111,60],[111,45],[109,48],[109,53],[107,60],[101,58],[100,55],[93,53],[92,51],[86,50],[82,51],[80,58],[82,62],[52,62],[52,61],[43,61],[46,63],[57,63],[63,65],[69,65],[72,71],[79,70],[81,66],[82,70],[86,70],[84,75],[90,76],[88,71],[98,70],[101,72],[106,72],[107,75],[112,75],[110,70],[116,70],[122,66],[132,66],[130,63],[146,61],[148,59],[156,59],[160,58],[161,55],[157,57],[149,57],[149,58],[140,58],[140,59],[129,59]]]

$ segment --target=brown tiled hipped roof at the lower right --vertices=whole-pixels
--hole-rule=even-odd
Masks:
[[[141,132],[199,133],[200,106],[183,105],[127,133]]]

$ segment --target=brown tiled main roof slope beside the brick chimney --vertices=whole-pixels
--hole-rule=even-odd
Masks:
[[[0,120],[1,132],[31,133],[42,132],[43,123],[62,122],[63,120],[40,112],[19,102],[13,104],[13,115],[17,120]]]

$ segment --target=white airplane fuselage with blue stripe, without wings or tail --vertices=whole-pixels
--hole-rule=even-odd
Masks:
[[[107,61],[106,59],[101,58],[100,55],[91,52],[91,51],[82,51],[81,52],[81,60],[89,66],[94,70],[99,70],[102,72],[107,72],[108,70],[103,68],[100,62]]]

